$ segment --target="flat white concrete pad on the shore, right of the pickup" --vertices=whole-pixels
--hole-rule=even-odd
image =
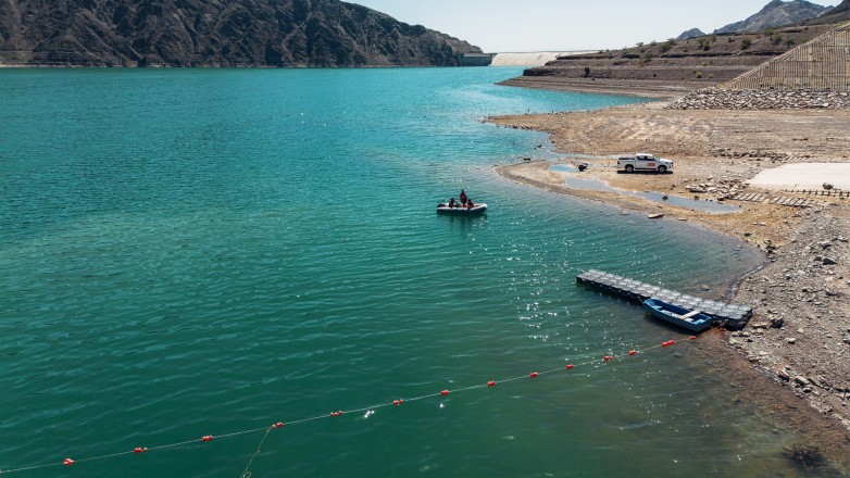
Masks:
[[[835,189],[850,190],[850,163],[797,163],[765,169],[748,181],[763,189],[823,189],[828,183]]]

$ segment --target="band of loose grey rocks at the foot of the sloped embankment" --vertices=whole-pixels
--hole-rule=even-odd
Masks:
[[[815,110],[850,108],[850,92],[707,88],[672,102],[671,110]]]

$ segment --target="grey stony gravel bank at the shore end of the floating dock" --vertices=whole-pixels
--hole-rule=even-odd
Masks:
[[[802,221],[771,265],[747,277],[736,299],[754,305],[750,327],[728,344],[774,381],[850,430],[850,221],[846,204]]]

